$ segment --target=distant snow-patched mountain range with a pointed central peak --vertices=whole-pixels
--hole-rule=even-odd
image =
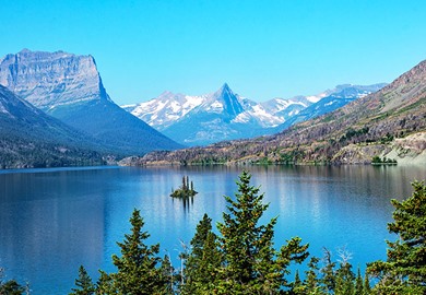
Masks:
[[[234,93],[225,83],[212,94],[190,96],[165,92],[138,105],[122,106],[138,118],[186,145],[272,134],[332,111],[383,87],[340,85],[312,96],[256,103]]]

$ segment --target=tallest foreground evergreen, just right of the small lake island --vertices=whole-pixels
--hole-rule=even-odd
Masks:
[[[263,194],[250,186],[251,176],[242,172],[234,201],[225,197],[229,213],[223,213],[223,223],[217,223],[218,238],[224,257],[221,269],[221,294],[276,294],[287,286],[284,278],[292,261],[301,262],[307,257],[308,246],[299,238],[287,241],[277,252],[273,247],[276,217],[267,225],[259,220],[268,209],[262,204]]]

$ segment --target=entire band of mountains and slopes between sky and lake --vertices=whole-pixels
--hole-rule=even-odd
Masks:
[[[389,85],[256,103],[225,83],[201,96],[166,92],[126,111],[92,56],[24,49],[0,59],[0,168],[128,155],[140,157],[126,165],[369,163],[374,155],[426,163],[425,99],[426,61]]]

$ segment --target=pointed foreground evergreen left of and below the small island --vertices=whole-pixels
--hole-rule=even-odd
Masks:
[[[159,245],[149,247],[144,244],[150,235],[142,232],[144,222],[139,210],[133,211],[130,223],[131,234],[125,235],[123,243],[117,243],[121,257],[113,256],[118,270],[111,274],[114,287],[119,294],[159,294],[168,283],[157,268],[161,262],[157,257]]]

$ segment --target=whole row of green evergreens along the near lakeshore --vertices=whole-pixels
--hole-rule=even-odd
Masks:
[[[146,245],[150,234],[134,209],[131,232],[117,243],[121,255],[113,256],[116,272],[99,270],[97,281],[83,266],[70,294],[426,294],[426,185],[412,184],[412,197],[391,200],[393,222],[388,224],[395,240],[387,240],[387,260],[367,263],[366,272],[354,270],[343,249],[333,257],[309,253],[309,244],[293,237],[274,245],[274,225],[260,222],[269,204],[251,175],[242,172],[235,198],[225,197],[227,210],[213,229],[204,214],[190,245],[179,255],[181,268],[168,256],[161,257],[159,244]],[[386,249],[383,248],[383,251]],[[299,272],[293,266],[300,266]],[[3,281],[0,294],[28,294],[28,286]]]

